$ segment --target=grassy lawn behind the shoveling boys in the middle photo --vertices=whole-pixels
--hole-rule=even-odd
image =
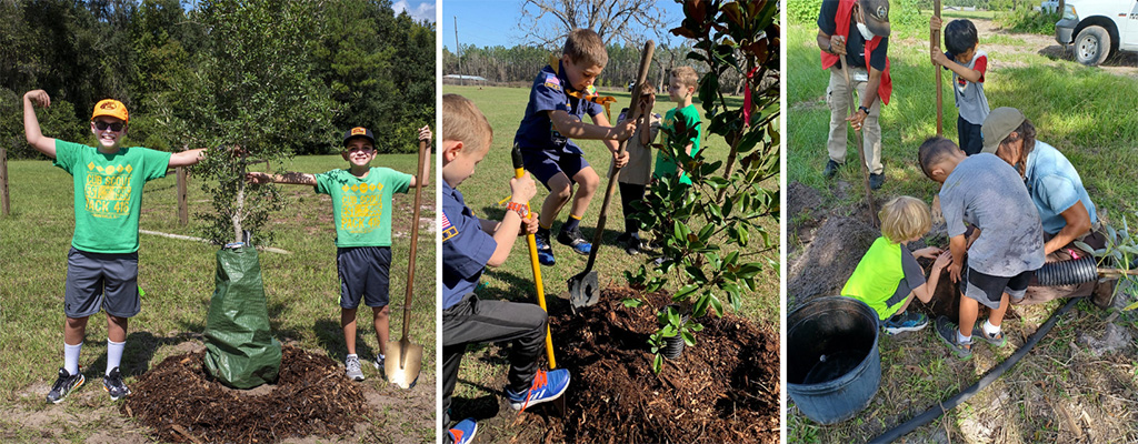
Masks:
[[[451,86],[445,87],[444,93],[462,94],[478,104],[479,109],[489,119],[494,127],[494,143],[486,159],[478,165],[475,175],[463,182],[459,187],[465,196],[467,204],[479,217],[500,219],[503,215],[503,207],[497,206],[497,201],[510,193],[508,181],[512,177],[513,168],[510,160],[510,150],[513,146],[513,135],[521,122],[528,100],[528,89],[509,87],[476,87],[476,86]],[[627,93],[611,92],[616,95],[617,103],[612,107],[613,118],[620,108],[629,101]],[[667,101],[666,95],[660,95],[655,111],[663,114],[674,103]],[[699,108],[699,107],[698,107]],[[702,112],[702,108],[700,108]],[[704,118],[704,125],[707,125]],[[608,150],[599,141],[577,141],[585,151],[585,158],[593,165],[593,168],[602,176],[601,187],[593,201],[589,203],[585,218],[582,221],[582,232],[588,240],[593,238],[596,227],[597,213],[601,211],[601,203],[604,198],[604,190],[608,185],[605,177],[611,159]],[[726,158],[726,143],[718,137],[703,141],[703,150],[711,159]],[[766,187],[777,186],[777,177]],[[539,207],[547,195],[544,186],[538,185],[537,196],[530,202],[533,207]],[[553,224],[553,229],[558,229],[567,217],[568,209],[562,210],[558,220]],[[766,229],[772,235],[772,242],[777,245],[778,225],[774,219],[764,223]],[[601,286],[609,284],[625,285],[624,273],[635,270],[648,258],[645,255],[630,257],[624,252],[622,248],[616,246],[613,240],[624,227],[624,216],[621,213],[619,195],[613,195],[612,203],[608,210],[608,221],[605,225],[604,244],[596,257],[594,269],[597,270]],[[479,291],[481,298],[506,299],[513,301],[534,301],[535,291],[533,274],[530,271],[529,255],[525,249],[525,242],[514,246],[510,259],[501,268],[490,269],[483,275],[484,288]],[[752,243],[752,246],[759,246]],[[542,267],[542,278],[545,284],[546,299],[553,299],[561,294],[568,294],[566,280],[580,273],[587,262],[586,255],[578,255],[569,251],[561,244],[553,245],[556,265],[553,267]],[[778,261],[777,249],[762,254],[762,258]],[[761,259],[759,259],[761,261]],[[760,280],[760,290],[754,294],[747,295],[743,303],[743,316],[762,322],[776,324],[780,317],[778,308],[778,270],[770,268]],[[675,288],[669,288],[675,290]],[[777,327],[775,327],[777,328]],[[553,341],[574,341],[571,336],[558,336],[553,334]],[[494,396],[500,382],[504,382],[506,366],[505,361],[497,359],[502,354],[501,349],[494,345],[480,347],[470,352],[464,359],[462,370],[459,375],[459,386],[454,395],[461,397],[477,399],[481,396]],[[468,383],[469,382],[469,383]]]

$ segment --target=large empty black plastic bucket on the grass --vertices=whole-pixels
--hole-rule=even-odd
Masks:
[[[881,385],[877,315],[861,301],[818,298],[786,317],[786,387],[815,422],[852,418]]]

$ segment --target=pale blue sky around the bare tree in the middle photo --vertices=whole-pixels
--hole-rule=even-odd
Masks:
[[[669,27],[679,26],[681,6],[671,0],[659,0],[668,12]],[[522,43],[523,33],[518,28],[521,16],[520,0],[444,0],[439,39],[443,47],[454,51],[454,20],[459,18],[459,42],[476,47],[513,47]],[[678,44],[683,39],[674,39]],[[657,42],[661,43],[661,42]]]

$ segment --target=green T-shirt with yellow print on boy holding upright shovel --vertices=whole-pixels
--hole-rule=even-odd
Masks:
[[[347,169],[316,175],[316,193],[332,196],[336,246],[391,246],[391,194],[406,193],[410,174],[372,168],[368,176]]]

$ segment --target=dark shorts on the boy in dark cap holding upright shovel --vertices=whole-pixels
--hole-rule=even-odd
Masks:
[[[336,249],[340,275],[340,308],[355,309],[363,299],[368,307],[387,307],[390,246],[351,246]]]

